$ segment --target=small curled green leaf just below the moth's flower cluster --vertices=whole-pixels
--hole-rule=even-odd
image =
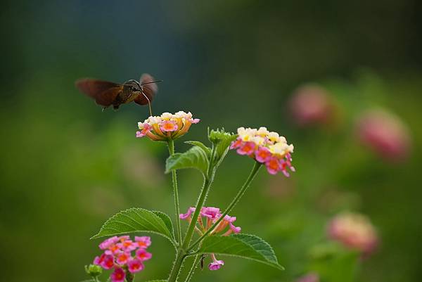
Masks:
[[[165,172],[172,169],[196,168],[203,174],[207,173],[208,158],[205,151],[198,146],[194,146],[185,153],[175,153],[167,158],[165,162]]]

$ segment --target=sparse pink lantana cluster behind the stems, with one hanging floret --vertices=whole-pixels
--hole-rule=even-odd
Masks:
[[[189,207],[186,214],[180,214],[180,219],[186,219],[190,224],[192,221],[192,214],[195,210],[195,207]],[[203,207],[200,210],[200,217],[198,217],[195,230],[200,235],[203,235],[203,233],[208,231],[212,224],[217,222],[220,217],[222,217],[222,213],[218,207]],[[219,234],[221,236],[229,236],[232,233],[240,233],[241,227],[234,226],[234,222],[236,222],[236,217],[226,215],[215,229],[210,232],[210,235]],[[208,269],[217,270],[224,265],[224,261],[217,259],[215,254],[211,254],[211,258],[212,262],[208,265]]]

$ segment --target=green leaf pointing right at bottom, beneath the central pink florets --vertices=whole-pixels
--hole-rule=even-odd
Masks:
[[[243,257],[284,269],[277,261],[271,246],[255,235],[209,236],[204,239],[199,252]]]

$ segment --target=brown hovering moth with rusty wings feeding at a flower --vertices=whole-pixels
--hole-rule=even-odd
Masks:
[[[157,82],[151,75],[144,73],[139,79],[130,79],[123,84],[106,82],[99,79],[82,78],[75,82],[79,91],[93,98],[103,110],[113,105],[117,110],[120,105],[135,102],[139,105],[149,105],[151,113],[151,101],[157,94]]]

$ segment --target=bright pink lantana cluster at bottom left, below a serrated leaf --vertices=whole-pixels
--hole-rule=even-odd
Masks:
[[[99,245],[104,252],[95,257],[94,264],[103,269],[114,269],[110,281],[124,282],[128,274],[143,270],[143,262],[151,259],[151,252],[146,251],[150,245],[151,238],[148,236],[135,236],[134,241],[129,236],[108,238]]]

